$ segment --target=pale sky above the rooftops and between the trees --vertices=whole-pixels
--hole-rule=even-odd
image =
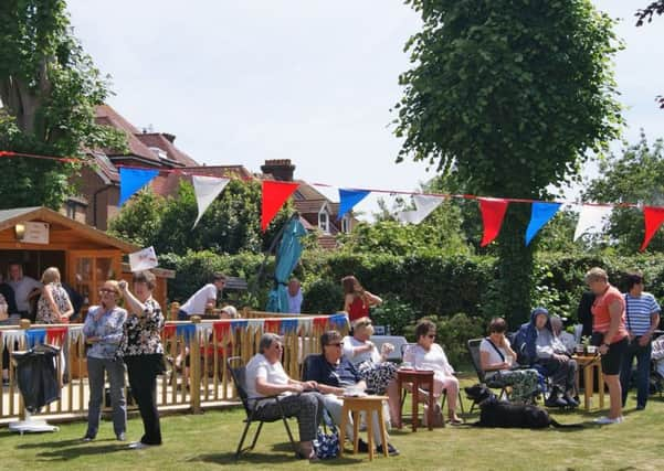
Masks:
[[[420,28],[401,0],[68,0],[75,34],[113,76],[109,103],[138,127],[172,132],[199,162],[291,159],[296,178],[414,190],[425,164],[394,164],[390,108]],[[664,18],[635,28],[650,0],[596,0],[623,18],[615,61],[625,138],[664,137]],[[590,170],[592,171],[592,170]],[[499,196],[499,195],[496,195]],[[369,208],[367,202],[359,210]]]

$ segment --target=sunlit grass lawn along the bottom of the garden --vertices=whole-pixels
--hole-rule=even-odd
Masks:
[[[472,378],[464,379],[470,385]],[[597,397],[596,397],[597,400]],[[466,400],[466,405],[468,402]],[[625,422],[599,427],[591,424],[599,413],[554,413],[563,424],[584,422],[583,429],[476,429],[446,427],[429,431],[393,431],[400,449],[396,458],[346,454],[344,459],[309,464],[289,452],[283,425],[266,424],[256,449],[238,463],[233,453],[242,431],[240,409],[169,416],[161,420],[165,445],[147,450],[127,450],[115,441],[112,424],[103,421],[97,440],[82,443],[84,422],[62,425],[59,432],[19,436],[0,430],[0,469],[54,470],[208,470],[235,469],[381,469],[381,470],[649,470],[664,462],[664,400],[651,397],[644,411],[634,411],[630,396]],[[467,417],[474,421],[476,414]],[[294,432],[297,426],[292,421]],[[141,435],[139,418],[128,424],[127,438]],[[347,448],[348,450],[348,448]]]

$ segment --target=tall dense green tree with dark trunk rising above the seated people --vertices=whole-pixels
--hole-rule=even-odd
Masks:
[[[544,200],[589,150],[618,136],[612,20],[590,0],[407,0],[423,29],[400,76],[398,161],[454,170],[475,194]],[[530,308],[535,244],[527,204],[510,204],[496,246],[495,308]]]

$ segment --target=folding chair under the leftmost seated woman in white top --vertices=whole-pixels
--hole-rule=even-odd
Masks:
[[[244,419],[244,422],[246,425],[244,426],[244,430],[242,431],[242,438],[240,439],[240,443],[238,445],[238,450],[235,451],[235,460],[238,460],[238,458],[240,458],[240,454],[243,451],[254,449],[254,447],[256,446],[256,442],[259,441],[259,436],[261,435],[261,430],[263,428],[264,422],[266,422],[266,421],[274,422],[280,419],[282,419],[284,421],[284,427],[286,427],[286,432],[288,433],[288,439],[291,440],[291,445],[293,446],[293,451],[295,452],[295,456],[297,456],[298,454],[297,445],[295,443],[295,440],[293,439],[293,433],[291,432],[291,427],[288,426],[288,420],[286,420],[286,415],[284,414],[284,410],[281,406],[278,396],[267,396],[267,397],[260,397],[260,398],[249,397],[246,394],[246,376],[245,376],[246,366],[244,365],[244,362],[242,361],[242,358],[240,356],[231,356],[230,358],[226,360],[226,365],[228,365],[229,372],[231,373],[231,377],[233,378],[233,383],[235,384],[235,388],[238,389],[238,395],[240,396],[240,399],[242,400],[242,406],[244,407],[244,411],[246,413],[246,418]],[[265,400],[272,400],[272,399],[276,400],[276,404],[281,411],[280,417],[276,417],[273,420],[254,420],[255,413],[256,413],[259,406],[261,405],[261,403],[265,402]],[[242,446],[244,445],[244,439],[246,438],[246,433],[249,432],[249,428],[253,421],[259,421],[259,428],[256,429],[256,432],[254,435],[254,439],[253,439],[251,446],[246,450],[244,450],[244,449],[242,449]]]

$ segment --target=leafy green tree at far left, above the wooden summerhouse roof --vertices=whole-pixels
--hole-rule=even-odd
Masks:
[[[73,36],[64,0],[0,2],[0,150],[83,157],[82,149],[123,149],[125,138],[94,121],[108,96]],[[77,165],[2,159],[0,207],[62,205]]]

